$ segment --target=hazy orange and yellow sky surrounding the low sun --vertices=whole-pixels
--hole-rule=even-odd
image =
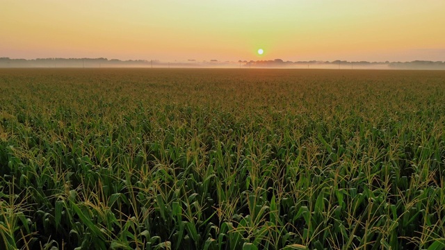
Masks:
[[[0,57],[445,60],[445,0],[0,0],[0,6]]]

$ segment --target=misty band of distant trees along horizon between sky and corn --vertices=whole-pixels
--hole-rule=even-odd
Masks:
[[[415,60],[412,62],[350,62],[346,60],[284,61],[275,60],[238,60],[197,61],[189,59],[181,62],[161,62],[160,60],[118,60],[107,58],[37,58],[11,59],[0,58],[0,67],[285,67],[285,68],[328,68],[328,69],[445,69],[445,62]]]

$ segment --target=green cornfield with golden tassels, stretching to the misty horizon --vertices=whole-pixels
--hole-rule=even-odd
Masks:
[[[445,72],[0,69],[0,249],[445,249]]]

